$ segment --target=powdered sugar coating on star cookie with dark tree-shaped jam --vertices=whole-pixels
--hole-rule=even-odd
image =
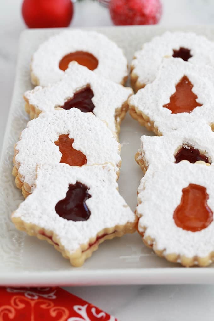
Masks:
[[[70,63],[61,81],[44,88],[37,86],[31,91],[26,91],[24,96],[30,105],[47,112],[63,106],[76,91],[85,87],[90,87],[94,93],[92,98],[95,105],[94,115],[105,120],[108,127],[116,132],[116,109],[121,108],[128,97],[133,94],[133,90],[98,76],[76,62]]]

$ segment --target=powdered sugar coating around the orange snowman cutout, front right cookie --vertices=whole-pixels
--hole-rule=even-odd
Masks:
[[[197,232],[176,226],[173,214],[180,204],[182,189],[198,184],[207,189],[207,204],[214,213],[214,167],[204,164],[167,164],[161,169],[151,166],[138,189],[139,231],[155,240],[155,248],[167,254],[205,257],[214,251],[214,221]]]

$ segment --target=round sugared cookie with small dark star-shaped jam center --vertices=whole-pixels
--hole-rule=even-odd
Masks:
[[[204,36],[191,32],[165,32],[143,45],[134,55],[131,65],[132,84],[135,90],[152,82],[164,56],[180,57],[194,65],[214,67],[214,43]]]

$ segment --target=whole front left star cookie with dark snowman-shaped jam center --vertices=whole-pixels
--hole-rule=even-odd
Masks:
[[[39,166],[33,194],[12,221],[17,229],[53,244],[74,266],[82,265],[104,240],[132,233],[136,225],[111,164]]]

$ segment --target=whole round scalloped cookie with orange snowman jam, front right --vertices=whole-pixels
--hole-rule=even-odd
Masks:
[[[138,231],[158,256],[184,266],[214,260],[214,167],[151,166],[138,189]]]

